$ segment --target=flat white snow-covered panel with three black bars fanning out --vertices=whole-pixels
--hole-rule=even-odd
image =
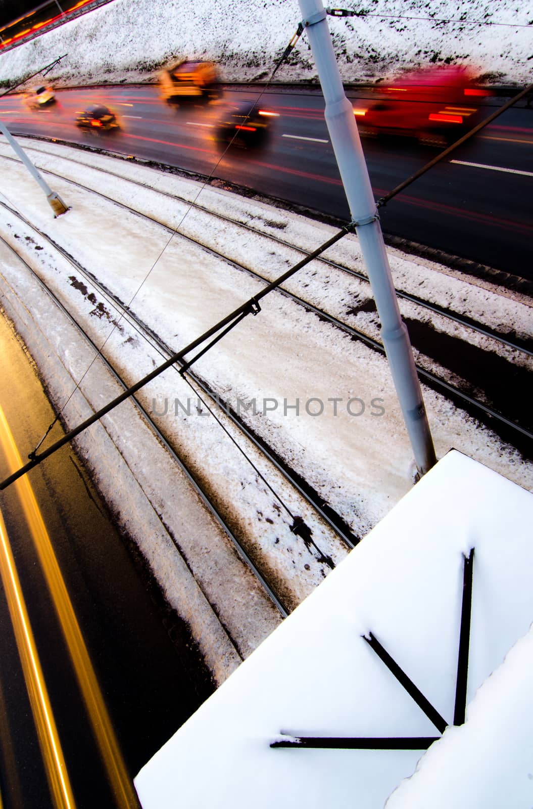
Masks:
[[[469,784],[467,802],[453,805],[486,807],[493,782],[517,806],[515,760],[531,781],[519,756],[501,765],[505,677],[476,700],[479,732],[469,732],[468,715],[463,728],[445,726],[462,722],[463,697],[472,701],[530,628],[531,524],[531,493],[448,453],[141,770],[143,809],[378,809],[442,731],[427,754],[444,751],[433,772]],[[487,705],[497,721],[480,721]],[[467,740],[463,767],[455,739]],[[475,760],[481,741],[478,804],[480,769],[465,756]],[[423,771],[422,762],[407,789]],[[417,806],[437,805],[431,777],[420,795]],[[411,806],[400,790],[395,798],[391,806]]]

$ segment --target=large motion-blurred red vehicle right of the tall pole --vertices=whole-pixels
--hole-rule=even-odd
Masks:
[[[467,66],[429,67],[405,73],[384,98],[367,109],[354,109],[362,135],[407,135],[432,146],[447,146],[484,117],[475,100],[492,95],[476,87]]]

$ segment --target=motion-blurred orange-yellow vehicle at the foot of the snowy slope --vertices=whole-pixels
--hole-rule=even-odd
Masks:
[[[212,61],[179,61],[159,75],[159,90],[168,104],[218,99],[218,70]]]

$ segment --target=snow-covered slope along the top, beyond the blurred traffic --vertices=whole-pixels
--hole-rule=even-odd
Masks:
[[[366,11],[329,18],[347,83],[458,62],[471,64],[482,80],[531,82],[531,0],[347,0],[342,7]],[[114,0],[0,55],[0,82],[19,80],[64,53],[49,74],[58,85],[154,80],[179,58],[213,59],[225,81],[265,80],[300,19],[297,0]],[[316,80],[305,34],[276,80]]]

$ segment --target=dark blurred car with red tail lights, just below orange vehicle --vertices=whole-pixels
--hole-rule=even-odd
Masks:
[[[266,142],[277,112],[260,107],[256,101],[241,101],[230,104],[214,128],[214,139],[222,146],[239,146],[247,149]]]

